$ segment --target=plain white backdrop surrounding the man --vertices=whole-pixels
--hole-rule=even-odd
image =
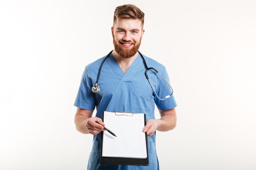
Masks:
[[[255,170],[255,0],[1,0],[0,169],[86,169],[92,135],[76,131],[73,103],[128,3],[178,104],[177,127],[157,132],[160,169]]]

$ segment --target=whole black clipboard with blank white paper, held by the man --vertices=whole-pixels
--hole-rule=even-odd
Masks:
[[[102,113],[102,121],[117,137],[107,131],[101,132],[101,164],[149,165],[147,133],[142,132],[142,128],[146,126],[146,114],[105,111]],[[129,131],[136,131],[135,135]]]

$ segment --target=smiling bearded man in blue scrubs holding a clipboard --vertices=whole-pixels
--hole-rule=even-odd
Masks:
[[[92,151],[88,161],[89,170],[159,169],[155,150],[155,131],[168,131],[176,126],[175,107],[177,104],[173,95],[165,100],[157,98],[144,75],[146,68],[138,53],[144,35],[143,25],[144,13],[139,8],[131,4],[117,7],[112,26],[115,49],[102,66],[98,83],[100,91],[98,93],[92,93],[91,88],[96,82],[99,67],[106,56],[85,67],[74,103],[74,106],[77,106],[74,121],[79,132],[94,135]],[[166,69],[162,64],[146,56],[144,58],[148,67],[156,68],[169,81]],[[166,82],[162,81],[161,77],[157,77],[156,74],[151,75],[151,83],[159,97],[171,94],[171,88]],[[155,119],[154,103],[159,109],[160,119]],[[95,106],[97,106],[97,114],[96,117],[92,117]],[[103,131],[103,126],[105,126],[101,120],[103,111],[146,114],[146,126],[141,130],[147,132],[148,135],[149,166],[100,164],[100,132]],[[95,121],[99,121],[103,126]]]

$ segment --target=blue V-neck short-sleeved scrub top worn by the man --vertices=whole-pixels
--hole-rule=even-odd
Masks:
[[[154,67],[169,82],[166,68],[149,57],[143,55],[148,67]],[[106,56],[88,64],[81,78],[81,84],[74,106],[94,110],[97,108],[96,116],[101,118],[103,111],[109,112],[133,112],[145,113],[146,120],[155,119],[155,104],[159,110],[169,110],[177,106],[173,95],[165,100],[159,100],[148,80],[145,77],[146,67],[138,55],[132,62],[128,71],[124,74],[112,54],[106,59],[99,77],[98,85],[100,91],[92,93],[92,86],[97,80],[99,67]],[[148,71],[150,82],[155,88],[157,95],[164,98],[171,94],[171,88],[154,71]],[[141,129],[142,130],[142,129]],[[132,142],[132,139],[131,139]],[[124,166],[124,165],[101,165],[101,133],[94,135],[92,151],[88,161],[88,170],[157,170],[159,169],[157,154],[155,150],[155,133],[148,137],[149,166]]]

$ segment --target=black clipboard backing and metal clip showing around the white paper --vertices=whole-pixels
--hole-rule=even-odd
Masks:
[[[129,112],[116,112],[117,116],[133,116],[133,114]],[[104,112],[102,113],[102,121],[104,122]],[[144,114],[144,126],[146,126],[146,114]],[[146,150],[147,150],[147,157],[146,158],[124,158],[124,157],[102,157],[102,145],[103,145],[103,132],[101,132],[101,157],[100,163],[101,164],[110,164],[110,165],[137,165],[137,166],[148,166],[148,135],[145,132],[145,139],[146,139]]]

